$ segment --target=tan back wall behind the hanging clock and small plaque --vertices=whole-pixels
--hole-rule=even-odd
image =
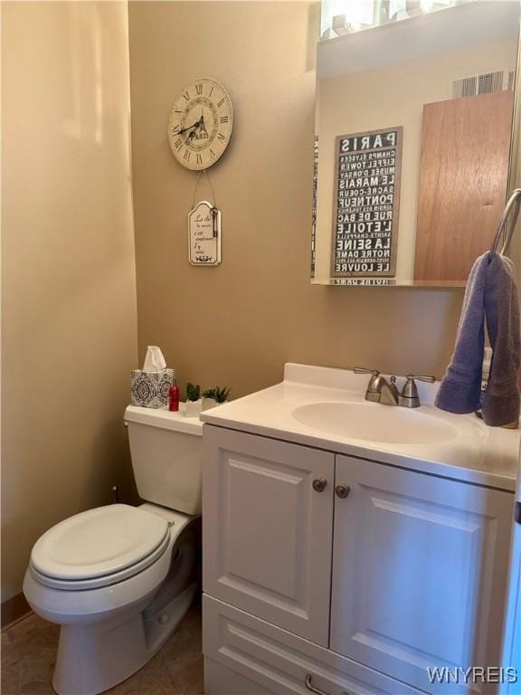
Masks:
[[[289,360],[440,376],[461,290],[309,281],[317,5],[131,2],[129,27],[140,358],[160,345],[182,386],[233,396],[275,383]],[[223,81],[236,118],[211,169],[218,268],[187,262],[196,175],[166,138],[173,100],[201,76]]]

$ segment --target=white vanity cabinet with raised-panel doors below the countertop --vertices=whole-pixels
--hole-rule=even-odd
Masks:
[[[203,490],[207,695],[497,691],[427,668],[500,663],[513,494],[208,424]]]

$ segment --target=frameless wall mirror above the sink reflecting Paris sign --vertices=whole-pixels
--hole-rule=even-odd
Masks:
[[[416,5],[318,43],[314,283],[462,287],[514,187],[519,3]]]

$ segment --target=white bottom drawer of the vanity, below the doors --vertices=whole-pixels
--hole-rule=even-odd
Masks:
[[[310,695],[308,675],[311,685],[328,695],[420,695],[420,690],[207,595],[203,621],[206,695]]]

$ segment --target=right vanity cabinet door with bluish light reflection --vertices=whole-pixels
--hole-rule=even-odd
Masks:
[[[496,691],[459,669],[500,663],[513,495],[345,456],[339,483],[331,649],[426,692]]]

